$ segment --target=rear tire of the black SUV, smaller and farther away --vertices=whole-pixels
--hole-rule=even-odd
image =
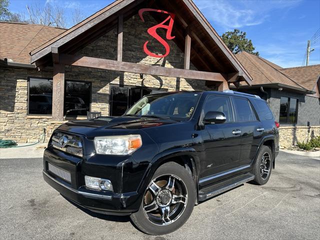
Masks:
[[[253,165],[253,174],[255,175],[255,178],[251,181],[251,183],[256,184],[256,185],[264,185],[267,183],[267,181],[270,178],[271,175],[271,170],[273,168],[273,154],[272,150],[266,146],[262,145],[259,149],[259,152],[255,158],[255,162]],[[266,159],[267,157],[269,158],[267,161],[268,163],[265,164],[265,170],[263,169],[263,157]],[[266,170],[268,170],[268,174],[266,175]]]

